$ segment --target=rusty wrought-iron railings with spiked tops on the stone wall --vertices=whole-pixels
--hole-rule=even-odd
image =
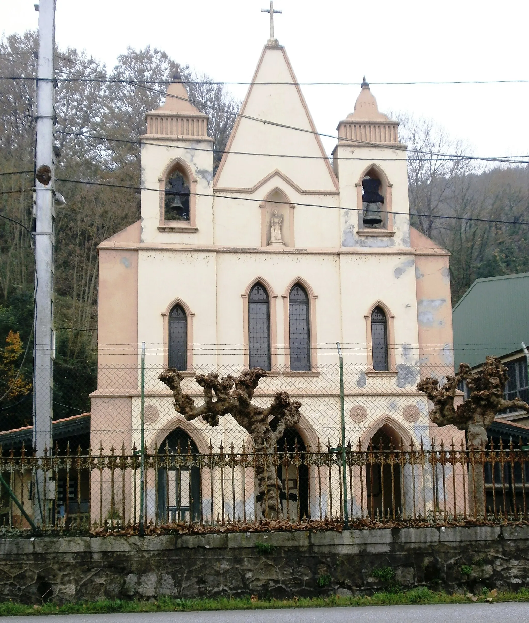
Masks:
[[[1,448],[0,448],[1,450]],[[344,460],[345,454],[345,460]],[[208,453],[187,447],[0,452],[2,531],[217,531],[528,521],[529,448],[444,442]],[[345,478],[344,478],[345,470]],[[259,478],[268,473],[269,478]],[[264,483],[260,486],[260,483]],[[345,483],[345,491],[344,491]],[[347,500],[347,505],[345,501]]]

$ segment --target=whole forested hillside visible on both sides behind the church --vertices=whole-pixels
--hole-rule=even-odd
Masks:
[[[34,76],[35,49],[32,32],[2,39],[0,76]],[[61,151],[57,178],[133,187],[57,182],[66,199],[65,206],[56,208],[54,417],[58,418],[90,407],[88,394],[96,385],[96,247],[138,220],[139,193],[134,190],[139,186],[138,137],[144,131],[145,112],[160,105],[164,81],[178,65],[158,49],[128,49],[107,70],[87,53],[68,48],[57,50],[55,67],[56,143]],[[225,87],[189,67],[180,67],[180,74],[189,81],[190,98],[210,115],[218,163],[238,102]],[[34,90],[34,80],[0,80],[0,429],[4,430],[31,422],[34,257],[28,230]],[[529,270],[528,227],[436,218],[528,221],[527,166],[459,158],[469,148],[428,121],[403,117],[400,131],[410,146],[410,210],[420,215],[412,221],[451,251],[454,302],[475,278]],[[5,174],[14,171],[25,173]]]

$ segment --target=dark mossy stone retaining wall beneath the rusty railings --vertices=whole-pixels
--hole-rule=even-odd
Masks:
[[[529,586],[529,526],[2,538],[0,599],[370,594],[388,586],[375,577],[387,568],[408,589],[518,590]]]

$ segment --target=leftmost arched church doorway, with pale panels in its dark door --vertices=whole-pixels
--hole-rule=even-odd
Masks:
[[[192,465],[199,449],[185,430],[177,427],[158,450],[158,518],[161,523],[200,519],[200,468]]]

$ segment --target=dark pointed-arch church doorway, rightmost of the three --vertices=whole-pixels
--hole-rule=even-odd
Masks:
[[[367,513],[372,519],[394,518],[402,513],[403,475],[393,454],[400,444],[400,435],[388,424],[380,427],[369,442],[365,482]]]

